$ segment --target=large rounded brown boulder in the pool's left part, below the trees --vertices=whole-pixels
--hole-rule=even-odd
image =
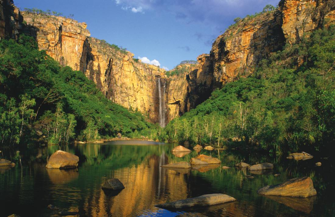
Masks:
[[[50,156],[46,167],[48,169],[75,168],[78,162],[78,156],[59,150]]]

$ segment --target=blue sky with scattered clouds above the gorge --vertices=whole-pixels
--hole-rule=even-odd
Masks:
[[[14,0],[23,8],[52,10],[87,23],[91,36],[127,48],[134,58],[172,69],[209,53],[233,23],[279,0]],[[155,61],[156,60],[156,61]]]

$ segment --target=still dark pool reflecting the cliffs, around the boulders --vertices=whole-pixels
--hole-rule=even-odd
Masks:
[[[78,216],[177,216],[201,213],[205,216],[335,216],[333,161],[295,161],[286,156],[239,150],[201,150],[218,157],[219,166],[198,170],[171,170],[168,163],[189,161],[196,151],[183,156],[171,153],[177,144],[146,141],[114,141],[103,144],[49,146],[34,149],[0,149],[3,158],[16,163],[14,168],[0,168],[0,216],[13,213],[25,216],[58,216],[47,208],[55,205]],[[46,169],[46,159],[57,150],[79,156],[77,169]],[[233,167],[238,162],[270,162],[273,171],[250,173]],[[322,162],[316,167],[316,162]],[[222,166],[230,166],[224,170]],[[275,177],[274,174],[280,176]],[[253,179],[246,175],[254,176]],[[310,176],[317,196],[289,198],[261,196],[257,189],[290,178]],[[105,193],[101,186],[109,178],[125,185],[118,194]],[[237,199],[223,205],[201,209],[167,211],[155,204],[222,193]]]

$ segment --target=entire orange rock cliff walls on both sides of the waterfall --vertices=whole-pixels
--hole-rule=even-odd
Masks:
[[[208,99],[215,88],[253,72],[258,62],[287,43],[335,21],[335,0],[281,0],[279,7],[232,25],[184,73],[167,77],[165,70],[141,63],[129,51],[90,38],[86,23],[20,12],[12,0],[0,0],[0,38],[19,33],[34,36],[62,65],[82,71],[105,96],[159,122],[158,78],[166,122]],[[163,86],[165,84],[165,92]]]

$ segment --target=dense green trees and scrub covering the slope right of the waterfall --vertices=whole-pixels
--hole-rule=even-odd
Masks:
[[[262,60],[254,73],[212,93],[171,121],[169,141],[285,151],[329,150],[335,142],[335,27]],[[301,150],[301,151],[303,151]]]

